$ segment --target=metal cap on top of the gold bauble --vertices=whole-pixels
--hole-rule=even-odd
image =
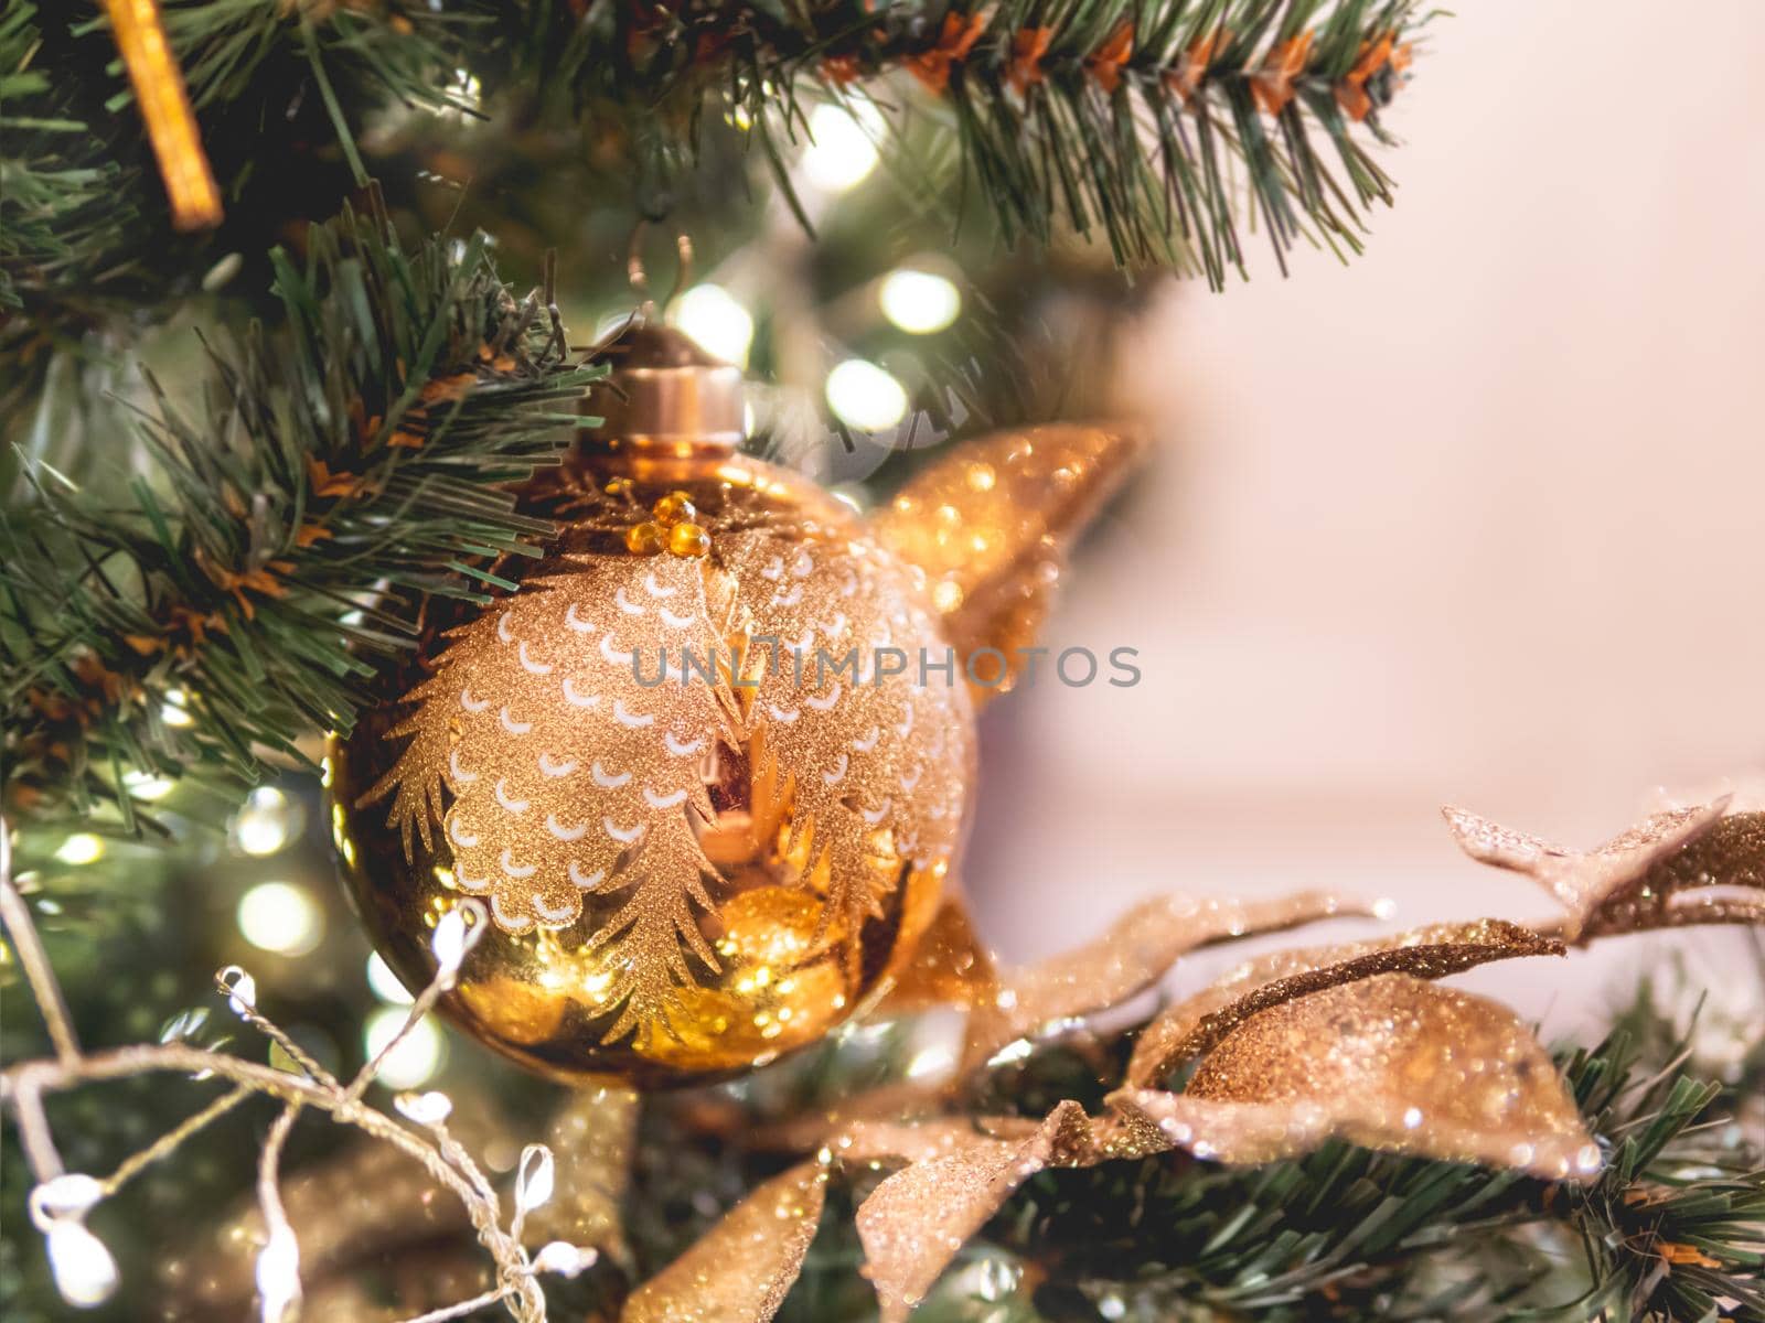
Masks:
[[[582,402],[602,416],[588,437],[646,455],[729,453],[747,436],[741,369],[674,330],[635,316],[607,344],[612,374]]]

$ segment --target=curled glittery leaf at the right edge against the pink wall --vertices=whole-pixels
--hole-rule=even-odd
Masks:
[[[1765,923],[1765,900],[1710,887],[1765,891],[1765,811],[1726,813],[1730,797],[1654,813],[1592,850],[1571,850],[1444,808],[1472,859],[1525,873],[1567,910],[1562,937],[1594,937],[1701,923]],[[1726,817],[1724,817],[1726,813]]]

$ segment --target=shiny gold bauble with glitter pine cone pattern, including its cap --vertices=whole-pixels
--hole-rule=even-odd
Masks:
[[[650,1087],[764,1064],[888,990],[953,882],[974,697],[925,572],[734,452],[734,369],[637,349],[620,416],[521,494],[561,529],[545,559],[494,566],[519,589],[482,610],[431,603],[330,794],[411,986],[477,896],[489,931],[441,1009],[547,1074]]]

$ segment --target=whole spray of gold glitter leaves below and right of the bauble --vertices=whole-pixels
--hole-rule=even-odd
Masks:
[[[856,1215],[882,1323],[902,1323],[964,1242],[1047,1168],[1177,1148],[1255,1164],[1347,1140],[1539,1180],[1594,1180],[1599,1141],[1530,1028],[1506,1005],[1433,979],[1493,960],[1560,956],[1594,937],[1765,921],[1758,900],[1731,894],[1765,889],[1765,813],[1730,806],[1723,799],[1656,815],[1588,854],[1447,810],[1467,852],[1537,877],[1569,916],[1539,928],[1502,919],[1433,924],[1251,960],[1147,1025],[1123,1085],[1096,1117],[1070,1101],[1043,1120],[960,1106],[965,1080],[1001,1046],[1144,991],[1197,946],[1366,910],[1318,894],[1161,898],[1096,942],[1006,974],[978,947],[965,914],[946,912],[928,933],[923,968],[909,970],[909,986],[884,1009],[937,995],[971,1005],[958,1078],[884,1087],[771,1127],[764,1138],[814,1148],[817,1159],[729,1214],[634,1297],[623,1323],[766,1323],[808,1252],[805,1228],[819,1217],[824,1171],[900,1166]],[[1186,1088],[1167,1090],[1190,1060],[1197,1065]],[[759,1230],[766,1217],[770,1237]]]

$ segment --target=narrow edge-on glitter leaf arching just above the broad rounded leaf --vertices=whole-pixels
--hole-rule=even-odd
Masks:
[[[1444,979],[1491,960],[1562,953],[1562,942],[1502,919],[1433,924],[1366,942],[1276,951],[1154,1016],[1135,1043],[1128,1083],[1142,1088],[1156,1085],[1250,1016],[1340,983],[1377,974]]]

